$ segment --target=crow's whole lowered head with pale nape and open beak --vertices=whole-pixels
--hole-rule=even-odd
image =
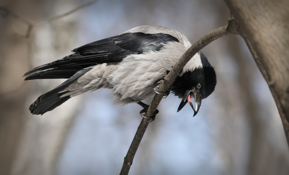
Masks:
[[[202,52],[195,54],[186,64],[172,85],[172,92],[182,99],[177,112],[188,102],[194,110],[199,111],[202,99],[207,98],[215,90],[216,72]],[[195,99],[195,106],[191,98]]]

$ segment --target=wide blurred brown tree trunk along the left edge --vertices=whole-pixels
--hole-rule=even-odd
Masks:
[[[34,0],[0,1],[28,20],[38,17]],[[25,10],[30,8],[29,11]],[[4,13],[5,14],[5,13]],[[2,17],[1,17],[2,18]],[[23,73],[29,70],[29,41],[16,34],[25,33],[27,25],[9,15],[0,24],[0,174],[10,174],[19,138],[27,121],[24,106],[29,94],[29,82],[23,83]],[[17,30],[16,30],[17,29]]]

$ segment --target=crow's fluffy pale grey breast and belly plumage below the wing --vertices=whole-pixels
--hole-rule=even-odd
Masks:
[[[109,88],[113,90],[114,104],[126,105],[141,101],[154,95],[156,82],[166,76],[166,71],[171,70],[187,49],[178,42],[168,42],[160,51],[149,50],[144,54],[127,56],[120,63],[91,66],[90,71],[62,91],[70,91],[62,96]]]

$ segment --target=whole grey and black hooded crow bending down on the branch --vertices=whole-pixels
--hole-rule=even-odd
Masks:
[[[24,74],[25,80],[67,79],[39,96],[29,110],[42,115],[73,96],[108,88],[112,90],[113,104],[138,103],[144,108],[140,112],[144,117],[148,105],[142,100],[160,94],[160,83],[191,45],[181,32],[157,25],[135,27],[83,45],[72,50],[74,53],[69,56]],[[189,103],[195,116],[202,99],[212,94],[216,83],[215,68],[199,51],[179,72],[170,89],[161,95],[166,97],[172,92],[182,99],[177,112]]]

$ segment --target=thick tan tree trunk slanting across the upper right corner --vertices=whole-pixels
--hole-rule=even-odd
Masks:
[[[268,83],[289,144],[289,1],[225,1]]]

